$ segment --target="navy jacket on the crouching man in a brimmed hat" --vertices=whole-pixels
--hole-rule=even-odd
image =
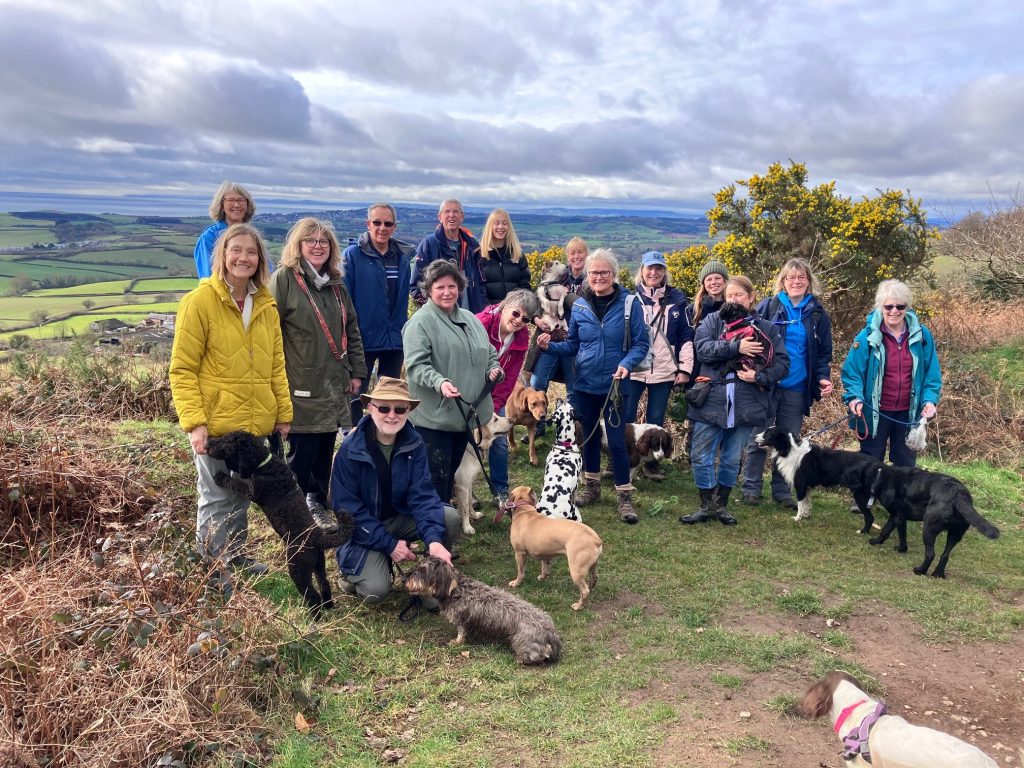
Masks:
[[[338,567],[347,574],[362,570],[370,550],[390,555],[398,544],[380,519],[377,467],[367,446],[367,427],[372,423],[369,415],[359,420],[342,441],[331,473],[331,506],[350,512],[355,520],[351,540],[337,551]],[[443,541],[444,508],[430,482],[427,446],[409,423],[395,435],[391,452],[391,504],[395,512],[416,520],[417,532],[428,547]]]

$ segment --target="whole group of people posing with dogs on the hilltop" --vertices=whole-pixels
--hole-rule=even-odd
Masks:
[[[195,453],[201,554],[237,569],[265,566],[244,550],[247,500],[214,481],[225,467],[206,455],[210,436],[239,429],[270,436],[316,524],[331,529],[332,510],[351,513],[355,532],[337,554],[342,589],[378,600],[390,588],[392,563],[415,558],[413,541],[451,561],[459,517],[449,502],[468,444],[467,417],[486,423],[504,413],[527,374],[538,389],[561,377],[583,424],[579,506],[601,495],[603,424],[616,510],[627,523],[638,516],[625,427],[645,392],[647,423],[664,425],[674,388],[707,389],[687,414],[700,497],[698,509],[680,517],[687,524],[734,524],[728,502],[740,479],[742,501],[759,504],[765,455],[752,433],[774,423],[799,434],[813,402],[833,392],[831,322],[802,259],[782,266],[774,294],[760,302],[749,279],[709,261],[690,302],[670,284],[664,254],[643,254],[631,291],[617,282],[610,250],[591,253],[574,238],[554,279],[568,294],[568,331],[559,335],[541,317],[502,209],[477,241],[463,226],[462,205],[446,200],[437,228],[416,247],[394,237],[388,203],[369,207],[367,231],[344,250],[329,222],[302,218],[276,269],[248,223],[255,213],[248,191],[225,182],[210,213],[214,224],[196,246],[202,280],[181,301],[170,378]],[[410,297],[420,305],[412,316]],[[733,338],[726,303],[738,305],[756,332]],[[934,416],[941,375],[904,284],[879,287],[842,380],[861,451],[881,459],[888,444],[893,463],[912,465],[905,433]],[[335,453],[339,430],[351,431]],[[504,436],[489,462],[501,497],[509,485]],[[664,477],[662,468],[646,471]],[[777,472],[771,495],[794,504]]]

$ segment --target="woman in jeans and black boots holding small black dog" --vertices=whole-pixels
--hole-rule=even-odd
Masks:
[[[726,304],[740,304],[750,312],[759,332],[756,336],[728,338],[721,310],[709,314],[697,327],[693,341],[699,362],[697,381],[710,380],[711,389],[703,403],[691,404],[687,414],[693,421],[690,463],[700,507],[679,518],[686,525],[713,517],[725,525],[736,524],[728,504],[739,474],[739,455],[751,432],[768,426],[771,388],[790,370],[782,337],[754,312],[755,299],[754,285],[743,275],[726,283]],[[736,358],[755,355],[768,358],[763,370],[736,365]]]

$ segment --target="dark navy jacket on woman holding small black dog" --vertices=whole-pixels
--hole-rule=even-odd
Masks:
[[[722,339],[725,323],[721,315],[712,312],[700,321],[693,341],[697,375],[708,376],[714,383],[705,404],[700,408],[690,406],[686,418],[722,429],[768,426],[772,417],[771,388],[785,378],[790,370],[790,355],[775,326],[760,317],[757,324],[771,339],[774,359],[771,366],[758,372],[757,383],[751,384],[731,371],[724,376],[722,374],[725,364],[739,356],[739,341]]]

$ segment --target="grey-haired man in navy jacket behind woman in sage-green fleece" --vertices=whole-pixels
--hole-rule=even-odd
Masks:
[[[459,306],[473,314],[487,306],[487,292],[480,271],[480,244],[462,222],[466,218],[462,203],[450,199],[437,209],[437,228],[416,247],[413,265],[413,300],[424,304],[427,297],[420,291],[420,275],[431,261],[444,259],[459,267],[466,279],[466,288],[459,294]]]

